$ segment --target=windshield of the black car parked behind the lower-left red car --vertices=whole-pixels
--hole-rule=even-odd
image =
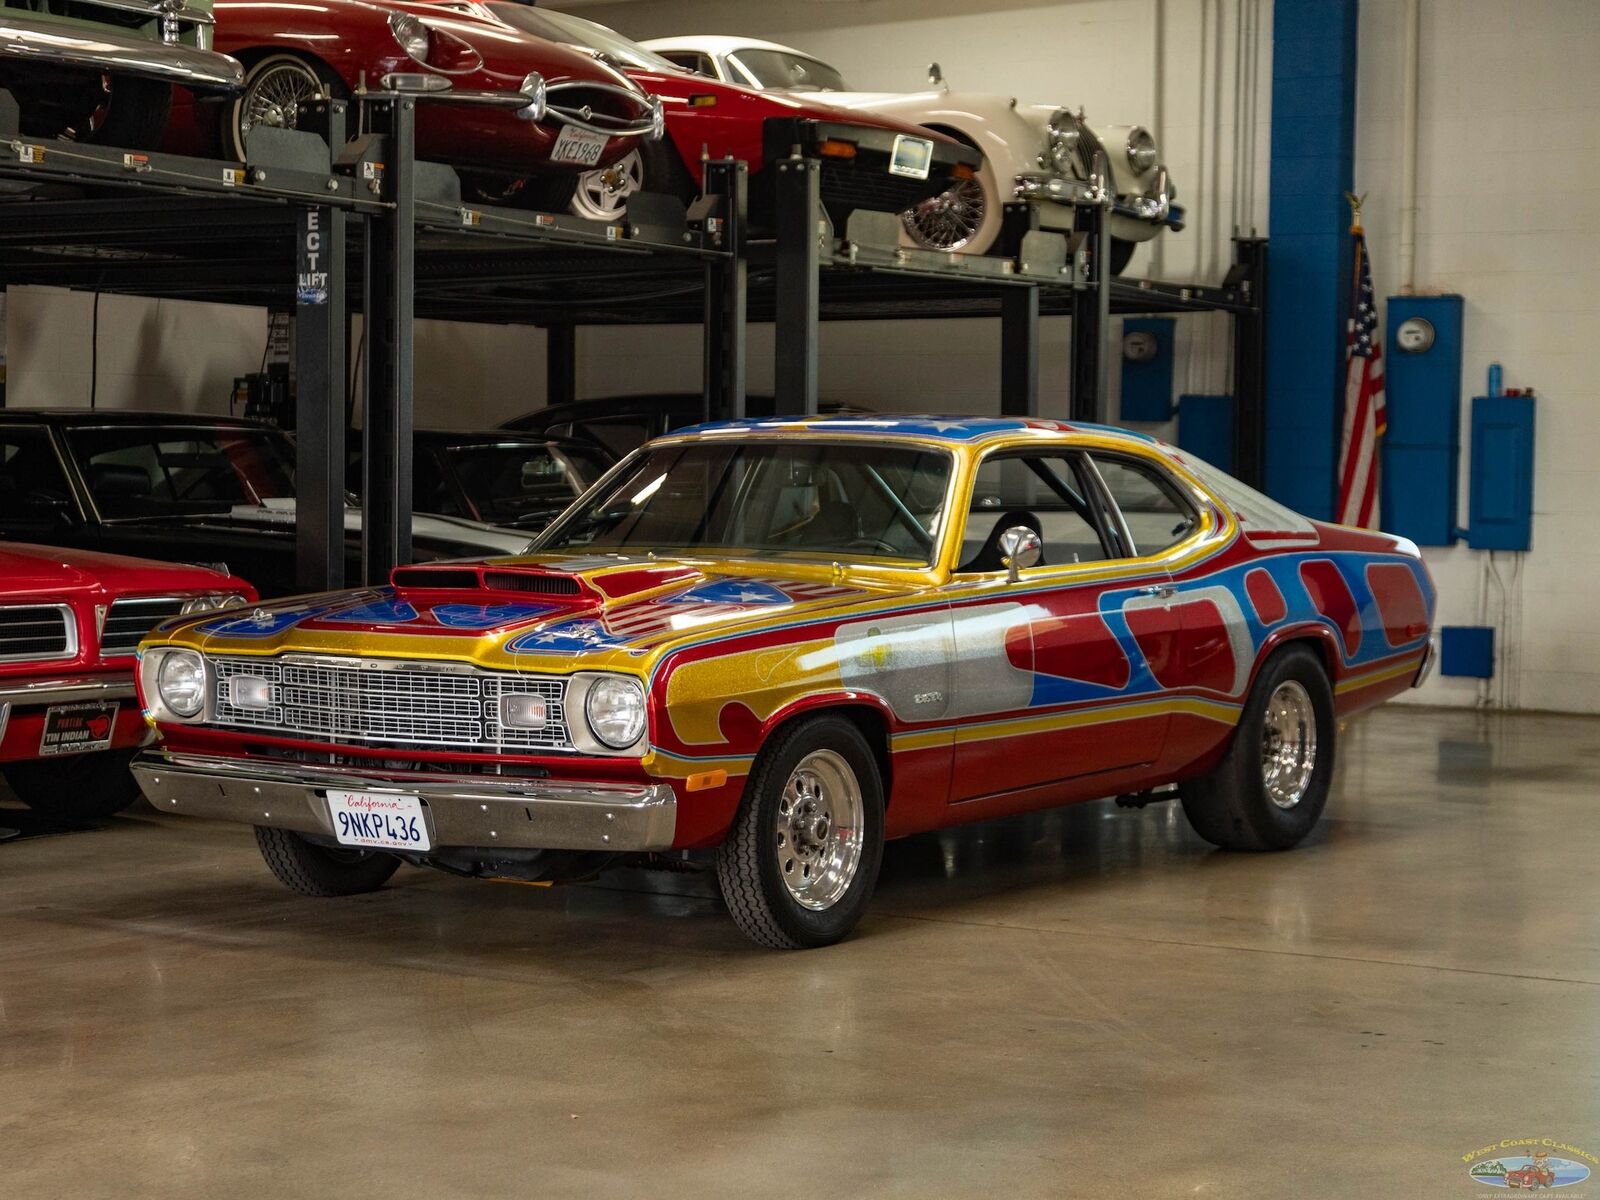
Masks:
[[[104,520],[294,496],[294,448],[270,429],[102,426],[66,437]]]

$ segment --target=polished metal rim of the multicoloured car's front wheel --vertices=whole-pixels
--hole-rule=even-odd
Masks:
[[[834,750],[813,750],[789,776],[778,800],[773,853],[795,902],[832,907],[856,878],[862,832],[861,782]]]

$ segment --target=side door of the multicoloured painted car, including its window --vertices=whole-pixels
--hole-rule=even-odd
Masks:
[[[1011,581],[998,539],[1016,525],[1040,534],[1043,557]],[[1152,672],[1178,622],[1162,603],[1166,573],[1138,565],[1125,538],[1078,451],[994,451],[978,466],[950,586],[952,800],[1110,779],[1160,758]]]

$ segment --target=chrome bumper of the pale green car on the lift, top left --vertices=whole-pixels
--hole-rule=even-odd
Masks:
[[[141,75],[187,88],[245,85],[245,69],[227,54],[112,29],[91,32],[62,21],[38,21],[14,8],[0,11],[0,58]]]

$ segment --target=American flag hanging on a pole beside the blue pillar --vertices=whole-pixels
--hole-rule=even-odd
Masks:
[[[1339,446],[1339,522],[1378,528],[1378,438],[1389,426],[1384,405],[1384,347],[1366,261],[1366,234],[1355,234],[1350,320],[1344,344],[1344,440]]]

